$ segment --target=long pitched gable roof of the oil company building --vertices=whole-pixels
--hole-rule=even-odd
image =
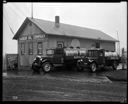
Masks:
[[[23,24],[21,25],[21,27],[19,28],[19,30],[17,31],[13,39],[17,39],[19,37],[19,33],[23,30],[27,21],[31,21],[32,23],[34,23],[39,29],[41,29],[46,34],[59,35],[59,36],[61,35],[71,36],[71,37],[96,39],[96,40],[100,39],[100,40],[112,41],[112,42],[118,41],[99,30],[80,27],[80,26],[74,26],[74,25],[69,25],[64,23],[60,23],[60,26],[56,27],[55,22],[46,21],[42,19],[35,19],[35,18],[32,19],[28,17],[25,19],[25,21],[23,22]]]

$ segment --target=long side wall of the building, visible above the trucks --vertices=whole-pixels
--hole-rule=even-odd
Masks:
[[[89,39],[81,39],[81,38],[73,38],[73,37],[65,37],[65,36],[48,36],[48,47],[55,48],[57,47],[57,41],[63,41],[66,47],[70,47],[72,40],[79,40],[81,48],[93,48],[95,47],[96,40],[89,40]],[[79,46],[79,45],[78,45]],[[107,42],[101,41],[100,48],[115,51],[115,43],[114,42]]]

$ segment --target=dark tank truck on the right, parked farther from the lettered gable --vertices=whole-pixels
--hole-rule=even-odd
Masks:
[[[84,59],[80,59],[78,64],[81,68],[89,68],[91,72],[96,72],[99,68],[111,66],[114,70],[120,63],[120,56],[117,52],[105,51],[105,49],[89,49]]]

